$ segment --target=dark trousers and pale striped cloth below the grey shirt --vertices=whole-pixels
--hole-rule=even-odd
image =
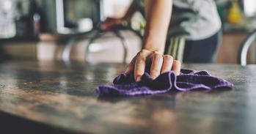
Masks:
[[[222,32],[203,40],[186,40],[185,37],[168,37],[165,54],[184,63],[213,63],[219,48]]]

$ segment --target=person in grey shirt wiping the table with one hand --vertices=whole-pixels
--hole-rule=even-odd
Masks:
[[[136,4],[138,1],[135,0],[123,18],[107,18],[101,29],[127,25],[138,7]],[[145,0],[145,19],[142,50],[125,70],[125,73],[133,72],[136,81],[140,81],[147,67],[154,79],[170,70],[179,75],[180,62],[214,61],[221,34],[215,1]]]

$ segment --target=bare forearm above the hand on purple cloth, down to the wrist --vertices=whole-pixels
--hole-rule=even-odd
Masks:
[[[146,0],[145,10],[147,25],[142,48],[164,53],[172,14],[172,0]]]

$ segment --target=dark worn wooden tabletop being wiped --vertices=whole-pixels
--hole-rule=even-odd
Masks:
[[[211,92],[99,98],[122,64],[3,62],[0,133],[256,133],[256,66],[185,64],[235,84]]]

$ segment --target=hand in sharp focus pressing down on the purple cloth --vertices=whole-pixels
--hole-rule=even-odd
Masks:
[[[145,73],[146,66],[150,66],[150,77],[155,79],[158,75],[173,70],[175,75],[180,74],[180,62],[173,60],[172,56],[161,55],[156,51],[148,51],[142,49],[134,59],[128,64],[125,73],[134,71],[135,81],[140,81],[142,75]]]

